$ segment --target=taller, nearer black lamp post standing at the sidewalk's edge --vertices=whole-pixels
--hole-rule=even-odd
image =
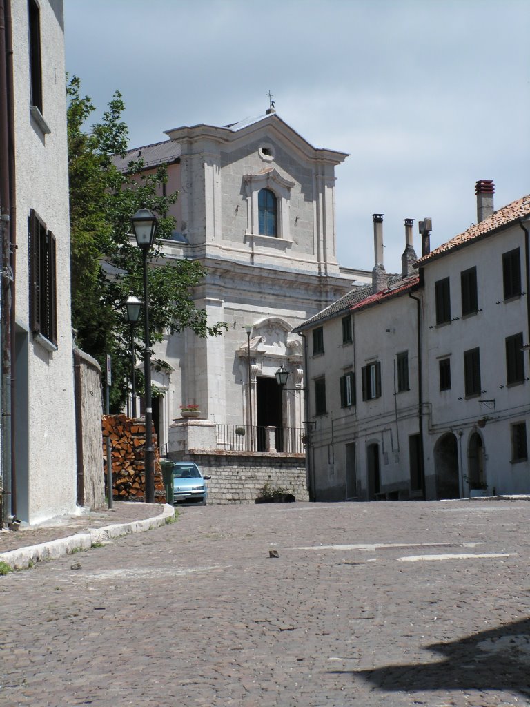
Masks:
[[[147,286],[147,256],[155,240],[158,221],[149,209],[139,209],[132,218],[132,226],[136,243],[141,248],[143,259],[143,377],[145,379],[146,400],[146,503],[155,501],[155,478],[153,474],[153,409],[151,408],[151,349],[149,348],[149,300]]]

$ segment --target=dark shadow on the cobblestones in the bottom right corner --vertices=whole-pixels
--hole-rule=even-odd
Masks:
[[[387,691],[506,690],[530,696],[530,619],[426,648],[446,659],[351,672]]]

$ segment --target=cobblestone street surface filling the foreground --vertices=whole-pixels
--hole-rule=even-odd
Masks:
[[[529,527],[528,501],[185,508],[0,577],[0,706],[528,707]]]

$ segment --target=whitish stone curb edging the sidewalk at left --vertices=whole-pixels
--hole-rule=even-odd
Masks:
[[[76,550],[90,550],[96,542],[106,542],[107,540],[122,537],[136,532],[144,532],[155,527],[165,525],[168,518],[175,513],[175,508],[165,504],[163,512],[154,518],[145,520],[134,520],[129,523],[117,523],[116,525],[106,525],[102,528],[95,528],[88,532],[79,532],[69,537],[62,537],[58,540],[49,540],[30,547],[19,547],[16,550],[0,553],[0,562],[5,562],[13,570],[21,570],[35,565],[37,562],[45,560],[56,560],[59,557],[71,554]]]

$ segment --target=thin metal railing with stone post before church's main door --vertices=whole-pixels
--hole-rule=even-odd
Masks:
[[[216,425],[217,448],[227,452],[304,454],[301,427]]]

